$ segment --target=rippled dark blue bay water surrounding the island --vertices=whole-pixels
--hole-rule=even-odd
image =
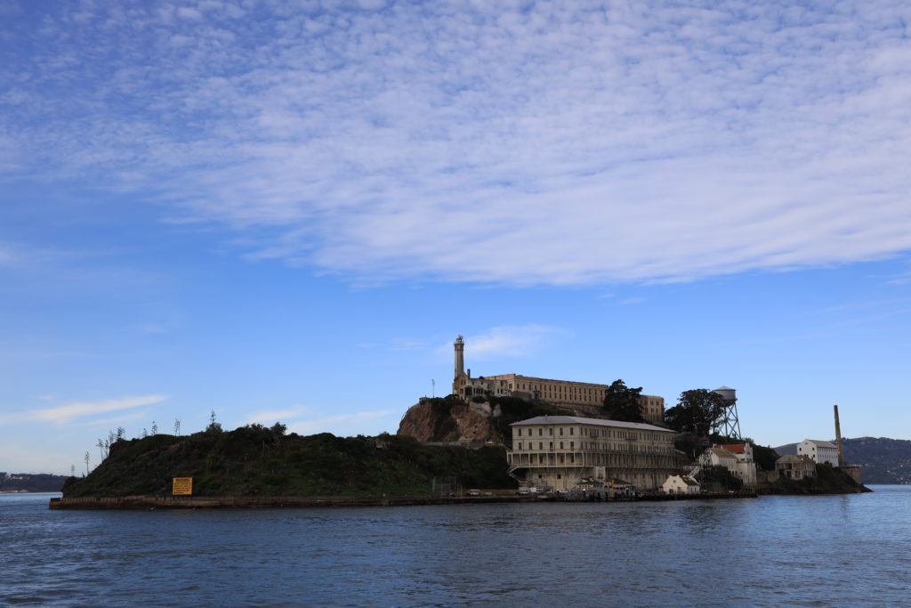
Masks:
[[[0,495],[0,603],[888,605],[911,487],[653,503],[50,511]]]

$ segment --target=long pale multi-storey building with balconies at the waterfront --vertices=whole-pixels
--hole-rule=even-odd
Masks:
[[[686,466],[674,431],[636,422],[577,416],[539,416],[514,422],[509,472],[531,485],[572,489],[583,479],[660,488]]]

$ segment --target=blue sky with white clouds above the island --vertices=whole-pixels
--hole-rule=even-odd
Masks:
[[[911,7],[0,0],[0,470],[475,376],[911,439]]]

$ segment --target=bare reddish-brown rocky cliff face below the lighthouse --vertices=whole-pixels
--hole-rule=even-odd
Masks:
[[[445,399],[421,399],[409,407],[398,435],[419,441],[492,441],[502,443],[491,417],[498,414],[488,404],[446,402]]]

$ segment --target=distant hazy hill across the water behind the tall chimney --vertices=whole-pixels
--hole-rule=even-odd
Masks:
[[[834,443],[834,439],[831,439]],[[848,464],[862,467],[861,477],[865,485],[870,484],[911,484],[911,441],[907,439],[890,439],[860,437],[842,439],[844,459]],[[789,443],[775,448],[784,456],[796,454],[797,444]]]

